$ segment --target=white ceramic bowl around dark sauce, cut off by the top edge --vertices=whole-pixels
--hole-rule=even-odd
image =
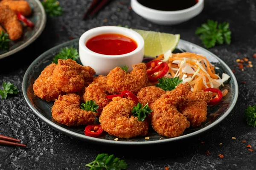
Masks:
[[[200,14],[204,8],[204,0],[198,0],[198,3],[194,6],[179,11],[155,10],[141,5],[137,0],[131,0],[131,8],[135,13],[152,23],[160,25],[175,25],[190,20]]]

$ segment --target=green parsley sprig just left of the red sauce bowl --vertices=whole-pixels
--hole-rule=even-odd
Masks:
[[[58,64],[58,59],[73,59],[76,61],[78,58],[79,58],[79,54],[76,48],[65,47],[65,48],[61,48],[61,51],[55,55],[52,62],[54,62],[55,64]]]

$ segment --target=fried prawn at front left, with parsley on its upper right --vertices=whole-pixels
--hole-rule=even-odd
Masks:
[[[52,117],[67,126],[90,125],[95,120],[93,112],[80,108],[80,96],[76,94],[60,95],[52,106]]]

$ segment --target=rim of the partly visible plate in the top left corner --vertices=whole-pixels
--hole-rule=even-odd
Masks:
[[[34,1],[38,4],[39,8],[42,11],[42,22],[41,22],[41,25],[38,28],[38,31],[32,37],[30,37],[27,42],[23,43],[22,45],[18,46],[17,48],[14,48],[11,51],[7,51],[6,53],[1,54],[0,59],[3,59],[3,58],[8,57],[12,54],[15,54],[18,51],[22,50],[23,48],[27,47],[32,42],[34,42],[41,35],[41,33],[44,31],[44,28],[45,28],[45,25],[46,25],[46,18],[47,18],[44,7],[43,7],[43,5],[41,4],[41,2],[39,0],[34,0]]]

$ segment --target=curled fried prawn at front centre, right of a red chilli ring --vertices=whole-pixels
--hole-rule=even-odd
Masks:
[[[136,104],[132,100],[114,97],[99,117],[102,129],[119,138],[145,136],[148,133],[148,123],[131,116],[134,106]]]

